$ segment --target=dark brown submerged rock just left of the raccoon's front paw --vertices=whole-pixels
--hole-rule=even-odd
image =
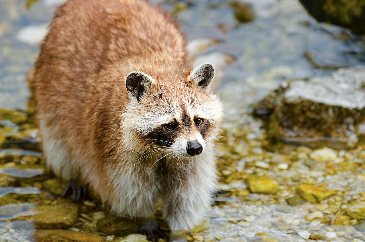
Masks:
[[[112,234],[120,237],[128,234],[135,234],[139,231],[139,226],[135,221],[122,217],[107,217],[100,219],[96,226],[99,231],[104,232],[105,234]]]

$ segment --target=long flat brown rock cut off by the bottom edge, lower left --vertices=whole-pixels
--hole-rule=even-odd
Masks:
[[[98,235],[85,234],[68,230],[36,230],[35,242],[103,242],[105,239]]]

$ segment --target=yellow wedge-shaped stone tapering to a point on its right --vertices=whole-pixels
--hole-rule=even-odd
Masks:
[[[311,186],[308,184],[298,185],[296,191],[304,200],[311,203],[323,201],[324,199],[336,193],[333,190],[324,189],[319,186]]]

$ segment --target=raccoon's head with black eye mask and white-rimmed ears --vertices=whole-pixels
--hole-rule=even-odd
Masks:
[[[222,105],[211,90],[213,78],[211,64],[155,79],[132,72],[126,80],[130,103],[123,114],[128,143],[186,158],[212,149],[222,118]]]

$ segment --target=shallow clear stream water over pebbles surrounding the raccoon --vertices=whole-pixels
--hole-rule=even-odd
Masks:
[[[59,0],[32,2],[28,1],[31,4],[26,7],[20,0],[0,1],[0,109],[27,112],[30,93],[26,73],[37,58],[39,40],[45,34],[47,23],[61,3]],[[337,152],[337,158],[327,163],[311,163],[308,158],[311,150],[289,145],[269,152],[262,148],[267,143],[266,133],[261,128],[262,122],[250,116],[250,104],[285,80],[363,65],[365,37],[316,22],[296,0],[255,1],[256,17],[246,23],[235,19],[229,3],[161,2],[180,20],[192,62],[210,61],[216,65],[215,86],[226,110],[224,135],[230,140],[222,140],[223,162],[219,164],[220,188],[226,193],[218,197],[209,213],[210,228],[193,232],[190,238],[195,241],[199,241],[199,236],[205,241],[304,241],[307,232],[321,235],[326,241],[362,241],[365,238],[362,226],[352,226],[361,224],[361,220],[348,219],[345,210],[356,201],[364,201],[364,147]],[[64,184],[48,185],[52,175],[45,170],[42,154],[37,150],[34,120],[22,112],[14,112],[11,117],[15,113],[17,119],[0,121],[0,143],[3,143],[0,175],[5,177],[0,177],[5,179],[2,183],[5,185],[0,187],[0,242],[32,241],[34,224],[10,220],[33,213],[36,204],[70,202],[70,199],[57,199],[56,190],[49,192],[54,187],[62,191]],[[269,164],[269,168],[261,167],[258,161]],[[280,168],[283,163],[287,169]],[[250,193],[243,180],[251,173],[275,178],[280,192]],[[303,201],[296,206],[287,205],[286,199],[296,194],[295,187],[301,183],[320,185],[337,193],[317,203]],[[108,213],[95,201],[78,205],[81,213],[68,226],[72,227],[70,231],[100,234],[96,222],[108,217]],[[327,211],[329,208],[334,209]],[[347,219],[342,224],[347,225],[333,224],[341,216],[344,221]],[[118,238],[102,235],[110,241]]]

